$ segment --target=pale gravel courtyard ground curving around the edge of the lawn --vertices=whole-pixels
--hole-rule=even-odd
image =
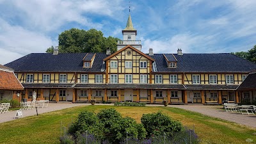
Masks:
[[[47,108],[38,108],[38,115],[51,111],[57,111],[60,109],[72,108],[75,106],[87,106],[90,104],[72,104],[72,103],[49,103]],[[96,104],[99,105],[99,104]],[[101,105],[101,104],[100,104]],[[105,104],[106,105],[106,104]],[[108,104],[113,105],[113,104]],[[147,106],[163,106],[158,104],[147,104]],[[256,128],[256,115],[242,115],[241,113],[226,112],[221,109],[220,106],[203,106],[203,105],[169,105],[168,107],[181,108],[189,111],[195,111],[204,115],[221,118],[230,122],[236,122],[237,124],[247,125],[249,127]],[[0,114],[0,123],[15,120],[16,111],[10,111],[8,113]],[[24,117],[36,115],[36,109],[29,109],[22,111]]]

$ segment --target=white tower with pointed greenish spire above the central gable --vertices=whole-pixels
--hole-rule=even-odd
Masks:
[[[125,47],[126,45],[132,45],[139,51],[141,51],[141,41],[136,40],[137,30],[132,26],[131,14],[129,14],[126,28],[122,30],[123,40],[118,40],[117,42],[117,51]]]

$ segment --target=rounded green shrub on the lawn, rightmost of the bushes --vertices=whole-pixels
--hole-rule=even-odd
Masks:
[[[143,114],[141,124],[147,131],[147,138],[154,136],[163,136],[166,134],[172,137],[174,132],[182,130],[180,122],[172,120],[169,116],[163,115],[161,112]]]

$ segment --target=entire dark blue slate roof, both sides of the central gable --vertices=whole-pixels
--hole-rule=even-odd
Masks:
[[[106,53],[96,53],[92,68],[83,68],[83,58],[87,53],[32,53],[6,64],[15,72],[102,72]],[[92,57],[95,53],[89,53]],[[172,54],[165,54],[168,59]],[[156,62],[156,72],[250,72],[256,64],[243,60],[234,54],[173,54],[177,58],[177,68],[168,68],[163,54],[150,56]],[[86,56],[87,57],[87,56]],[[88,58],[89,58],[88,57]]]

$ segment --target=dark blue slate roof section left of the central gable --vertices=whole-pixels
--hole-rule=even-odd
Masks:
[[[97,53],[92,68],[83,68],[83,58],[87,53],[32,53],[5,66],[15,72],[101,72],[106,53]],[[93,53],[95,54],[95,53]]]

